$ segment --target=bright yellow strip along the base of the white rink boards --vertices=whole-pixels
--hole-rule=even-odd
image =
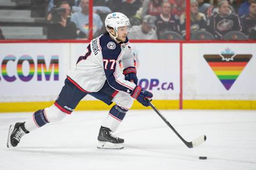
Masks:
[[[5,112],[35,112],[49,107],[54,101],[0,103],[0,113]],[[179,100],[153,100],[158,109],[179,109]],[[108,106],[99,100],[82,100],[76,111],[109,110]],[[131,109],[151,109],[134,101]],[[183,100],[183,109],[252,109],[256,110],[256,100]]]

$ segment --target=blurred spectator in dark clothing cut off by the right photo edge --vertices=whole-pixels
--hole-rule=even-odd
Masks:
[[[256,2],[250,3],[249,14],[242,18],[243,32],[249,39],[256,39]]]

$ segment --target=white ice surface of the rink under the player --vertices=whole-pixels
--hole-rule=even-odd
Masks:
[[[9,125],[31,113],[0,114],[0,169],[256,169],[255,111],[161,111],[185,140],[207,136],[189,149],[153,110],[132,110],[116,132],[125,148],[99,150],[98,130],[107,113],[73,112],[11,149],[6,148]]]

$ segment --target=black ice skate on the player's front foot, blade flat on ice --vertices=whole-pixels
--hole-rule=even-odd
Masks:
[[[101,126],[99,136],[98,149],[123,149],[124,139],[116,137],[109,128]]]

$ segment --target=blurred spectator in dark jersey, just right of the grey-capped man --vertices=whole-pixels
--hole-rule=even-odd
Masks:
[[[162,3],[161,14],[156,16],[156,30],[158,38],[166,31],[180,33],[179,16],[171,15],[171,3],[165,1]]]

